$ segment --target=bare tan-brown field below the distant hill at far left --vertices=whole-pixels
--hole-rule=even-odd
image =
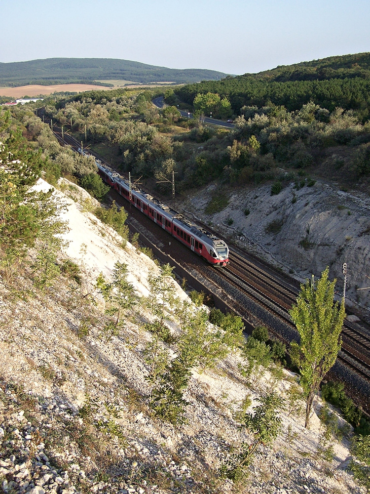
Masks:
[[[111,87],[98,86],[96,84],[56,84],[52,86],[41,86],[38,84],[30,84],[27,86],[18,87],[0,87],[0,96],[8,96],[10,98],[23,98],[24,96],[29,96],[30,98],[35,96],[48,96],[53,92],[61,91],[71,91],[71,92],[82,92],[91,91],[93,89],[98,90],[109,90]]]

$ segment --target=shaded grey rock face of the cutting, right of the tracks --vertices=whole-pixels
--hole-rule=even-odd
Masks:
[[[306,182],[307,183],[307,182]],[[206,215],[204,209],[215,189],[208,186],[182,205],[239,245],[290,272],[299,281],[320,276],[330,266],[330,277],[341,288],[342,265],[347,263],[347,296],[370,307],[370,198],[346,193],[316,181],[296,189],[289,184],[271,196],[271,184],[226,190],[228,206]],[[244,210],[248,208],[246,216]],[[228,219],[233,220],[229,225]]]

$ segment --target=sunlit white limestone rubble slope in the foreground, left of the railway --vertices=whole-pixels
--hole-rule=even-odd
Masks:
[[[103,306],[92,285],[99,272],[109,276],[120,260],[138,296],[145,296],[148,273],[158,267],[130,244],[120,247],[119,236],[86,211],[90,200],[83,191],[67,182],[64,190],[70,196],[65,196],[71,228],[67,253],[80,264],[83,283],[62,279],[42,293],[26,269],[18,273],[16,289],[5,279],[0,282],[2,491],[362,492],[345,470],[347,439],[331,441],[334,457],[327,461],[318,417],[307,431],[302,415],[288,415],[288,410],[282,412],[283,429],[273,447],[259,448],[246,486],[220,478],[230,447],[252,440],[235,418],[243,399],[250,395],[253,407],[269,390],[286,396],[295,381],[288,372],[277,380],[266,371],[251,385],[238,370],[243,359],[231,355],[212,371],[193,371],[183,425],[174,427],[153,415],[143,355],[151,338],[143,321],[150,315],[138,308],[121,334],[105,341]],[[89,303],[93,297],[96,305]],[[89,334],[81,332],[86,322]],[[171,325],[178,330],[176,321]]]

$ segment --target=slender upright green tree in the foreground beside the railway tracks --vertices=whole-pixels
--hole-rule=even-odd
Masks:
[[[301,285],[297,305],[290,311],[300,336],[300,343],[291,345],[291,357],[300,371],[300,383],[306,398],[305,427],[312,417],[320,383],[333,367],[341,346],[344,299],[340,305],[334,302],[336,280],[330,282],[328,275],[329,267],[314,287],[308,280]]]

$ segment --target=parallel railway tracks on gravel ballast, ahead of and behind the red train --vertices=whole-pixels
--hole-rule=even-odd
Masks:
[[[50,119],[44,117],[44,121],[51,124]],[[80,147],[72,136],[66,133],[62,135],[61,128],[55,124],[53,132],[61,145],[70,145],[76,151]],[[155,228],[158,229],[156,226]],[[287,344],[297,340],[298,334],[288,313],[298,296],[294,282],[283,279],[278,273],[267,269],[263,263],[234,247],[230,247],[229,259],[227,269],[216,270],[200,259],[201,262],[198,263],[190,262],[190,269],[196,269],[222,290],[229,299],[230,306],[251,326],[267,326],[271,334]],[[342,340],[338,360],[365,379],[370,386],[370,331],[345,321]]]

